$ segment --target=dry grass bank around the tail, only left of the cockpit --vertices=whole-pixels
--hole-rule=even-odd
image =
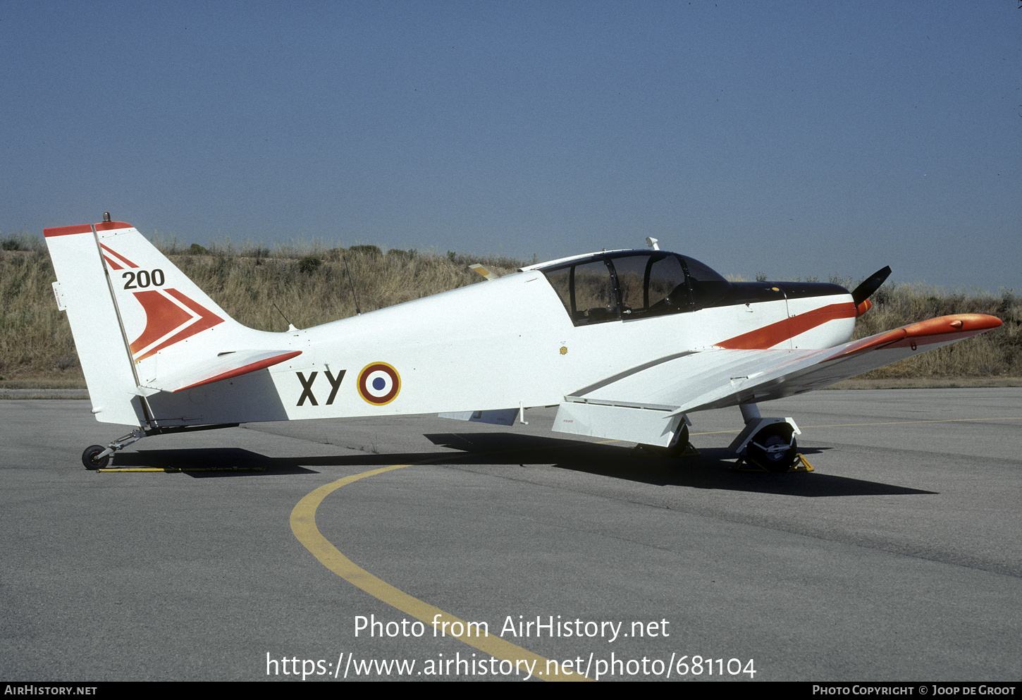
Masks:
[[[0,387],[84,388],[71,326],[53,296],[56,276],[45,244],[27,235],[2,241]],[[451,251],[383,253],[373,245],[329,248],[319,241],[292,242],[272,250],[230,241],[205,248],[158,236],[154,242],[234,319],[270,331],[286,330],[287,321],[308,328],[354,316],[352,281],[364,313],[481,282],[468,268],[473,263],[500,275],[524,264]]]

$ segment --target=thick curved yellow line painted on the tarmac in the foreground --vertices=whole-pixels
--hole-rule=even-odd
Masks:
[[[445,459],[446,458],[447,456],[445,456]],[[419,464],[422,463],[420,462]],[[506,659],[511,661],[511,663],[516,663],[517,661],[524,661],[529,665],[535,663],[536,666],[533,674],[545,681],[592,681],[592,679],[588,679],[577,673],[562,675],[559,672],[560,664],[557,661],[549,660],[543,656],[533,654],[526,649],[522,649],[519,646],[504,641],[498,636],[490,635],[486,637],[470,637],[468,635],[470,632],[468,622],[455,617],[454,615],[445,612],[429,603],[421,601],[414,596],[410,596],[404,591],[390,586],[382,578],[378,578],[377,576],[369,573],[341,554],[340,551],[330,544],[330,541],[324,538],[323,533],[319,531],[319,528],[316,526],[316,510],[327,496],[341,486],[345,486],[349,483],[358,481],[359,479],[364,479],[367,476],[375,476],[376,474],[393,471],[394,469],[404,469],[405,467],[410,466],[412,465],[394,464],[389,467],[373,469],[371,471],[364,471],[361,474],[345,476],[344,478],[337,479],[336,481],[320,486],[298,501],[294,510],[291,511],[291,531],[294,532],[294,536],[298,539],[298,542],[300,542],[307,550],[312,552],[313,556],[320,560],[320,563],[336,573],[338,576],[362,589],[373,598],[377,598],[387,605],[391,605],[402,612],[422,620],[427,625],[433,626],[435,624],[434,629],[444,629],[443,625],[446,622],[448,637],[454,637],[470,647],[474,647],[475,649],[478,649],[479,651],[490,654],[496,658]],[[464,631],[460,636],[451,634],[451,627],[455,623],[460,623],[461,628]],[[545,675],[548,665],[551,669],[556,669],[557,674],[551,674],[549,676]]]

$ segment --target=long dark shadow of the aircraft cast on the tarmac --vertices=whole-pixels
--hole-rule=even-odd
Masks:
[[[717,488],[809,498],[881,495],[933,495],[936,492],[814,472],[769,474],[734,469],[725,449],[700,450],[699,456],[667,459],[633,448],[508,432],[430,433],[433,445],[452,452],[267,457],[240,448],[144,450],[121,453],[115,467],[186,470],[193,478],[313,474],[326,467],[381,467],[392,464],[479,464],[527,468],[552,465],[655,485]],[[809,454],[809,451],[805,451]],[[820,450],[812,453],[819,454]],[[187,471],[199,470],[199,471]],[[205,470],[205,471],[201,471]]]

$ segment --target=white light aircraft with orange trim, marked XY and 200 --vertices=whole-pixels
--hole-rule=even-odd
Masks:
[[[647,239],[648,249],[531,265],[274,333],[232,320],[136,229],[104,220],[44,232],[92,412],[135,426],[88,448],[89,469],[169,432],[425,413],[510,425],[542,406],[558,407],[556,431],[670,455],[688,447],[689,414],[738,406],[745,428],[731,450],[787,471],[798,427],[760,416],[758,403],[1001,325],[960,314],[850,341],[889,268],[850,293],[836,284],[728,282]]]

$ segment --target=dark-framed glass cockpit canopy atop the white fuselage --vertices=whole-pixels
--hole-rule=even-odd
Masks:
[[[666,250],[595,253],[539,270],[576,326],[697,311],[731,289],[699,261]]]

